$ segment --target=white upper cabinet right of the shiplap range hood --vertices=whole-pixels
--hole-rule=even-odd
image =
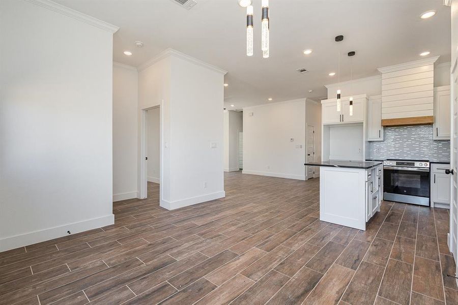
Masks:
[[[434,88],[434,140],[450,140],[450,86]]]

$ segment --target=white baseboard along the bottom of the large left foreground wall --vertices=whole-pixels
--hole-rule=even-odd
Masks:
[[[59,227],[48,228],[40,231],[5,237],[0,239],[0,252],[33,245],[37,242],[42,242],[62,236],[67,236],[67,231],[79,233],[100,227],[105,227],[115,223],[115,215],[110,214],[98,218],[84,220],[76,223],[66,224]]]

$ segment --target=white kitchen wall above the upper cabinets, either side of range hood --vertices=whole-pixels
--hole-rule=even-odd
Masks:
[[[436,64],[434,66],[434,86],[445,86],[450,84],[450,63]],[[328,99],[337,95],[338,83],[326,85]],[[340,83],[342,97],[351,95],[367,94],[368,97],[382,94],[382,75],[354,79]]]

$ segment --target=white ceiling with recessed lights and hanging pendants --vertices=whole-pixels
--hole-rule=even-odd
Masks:
[[[113,59],[139,66],[173,48],[228,71],[224,100],[228,108],[326,97],[325,84],[350,79],[348,51],[355,50],[353,78],[377,75],[377,68],[420,59],[431,51],[450,61],[450,8],[442,0],[271,0],[270,57],[262,58],[261,0],[254,0],[254,55],[246,56],[245,9],[237,0],[196,0],[186,10],[171,0],[55,0],[120,27]],[[436,16],[420,19],[427,10]],[[335,43],[342,34],[345,40]],[[140,40],[144,47],[137,48]],[[304,49],[313,49],[304,55]],[[123,55],[124,50],[133,55]],[[308,73],[296,72],[298,68]],[[312,89],[312,93],[308,90]],[[272,103],[270,102],[270,103]],[[232,108],[232,109],[234,109]]]

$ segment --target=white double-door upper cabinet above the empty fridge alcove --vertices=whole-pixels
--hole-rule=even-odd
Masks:
[[[340,111],[337,111],[337,100],[323,100],[322,124],[356,123],[363,122],[366,113],[366,95],[353,97],[353,115],[350,115],[350,97],[340,99]]]

